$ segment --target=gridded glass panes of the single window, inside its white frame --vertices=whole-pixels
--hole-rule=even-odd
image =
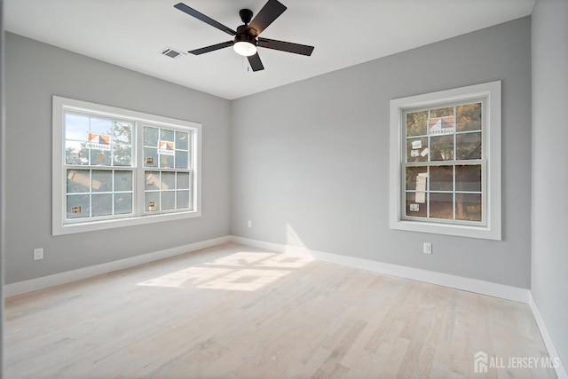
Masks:
[[[404,219],[485,225],[485,100],[403,112]]]

